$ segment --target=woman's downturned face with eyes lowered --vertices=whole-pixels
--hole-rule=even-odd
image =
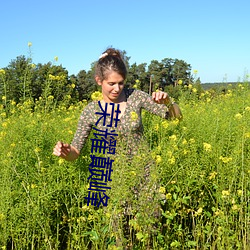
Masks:
[[[110,71],[103,81],[96,77],[98,85],[102,86],[102,95],[105,102],[119,102],[124,88],[124,78],[117,72]]]

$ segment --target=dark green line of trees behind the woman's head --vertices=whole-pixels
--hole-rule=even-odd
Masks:
[[[147,63],[129,64],[126,52],[123,51],[128,68],[126,86],[136,87],[145,92],[156,89],[165,91],[167,87],[183,86],[199,82],[191,72],[191,65],[183,60],[164,58],[161,61],[152,60]],[[9,100],[16,103],[32,99],[53,97],[56,101],[64,100],[65,96],[71,102],[90,100],[91,94],[99,90],[94,80],[95,62],[90,70],[80,70],[77,75],[69,75],[62,65],[54,62],[34,64],[31,57],[24,55],[11,60],[9,65],[0,70],[0,95],[5,103]],[[134,86],[135,87],[135,86]]]

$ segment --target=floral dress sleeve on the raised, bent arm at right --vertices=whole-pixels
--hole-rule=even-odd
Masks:
[[[136,91],[136,98],[140,100],[142,108],[146,109],[152,114],[169,119],[168,107],[165,104],[158,104],[154,102],[149,94],[140,90]]]

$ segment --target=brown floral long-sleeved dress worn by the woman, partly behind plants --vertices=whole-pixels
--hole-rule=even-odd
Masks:
[[[113,197],[119,197],[119,204],[125,218],[133,218],[135,214],[140,213],[143,219],[153,218],[152,221],[155,219],[158,221],[160,216],[158,201],[161,198],[158,192],[159,182],[150,177],[152,176],[152,174],[150,175],[152,167],[154,167],[155,164],[152,158],[149,157],[149,147],[143,151],[144,157],[139,161],[140,164],[133,162],[133,158],[139,155],[137,155],[138,148],[140,148],[143,144],[142,141],[144,141],[141,115],[142,109],[146,109],[155,115],[168,119],[168,108],[164,104],[155,103],[151,96],[143,91],[126,88],[124,91],[126,95],[126,107],[120,120],[117,122],[117,126],[108,128],[107,126],[103,126],[102,121],[96,125],[96,122],[100,118],[96,113],[101,113],[102,110],[98,101],[93,101],[84,108],[80,116],[72,145],[81,151],[93,128],[99,130],[106,130],[108,128],[109,132],[115,130],[118,134],[117,142],[119,142],[118,144],[120,145],[118,149],[121,149],[121,151],[116,152],[114,157],[117,157],[117,155],[119,157],[119,154],[124,155],[125,153],[127,158],[125,163],[120,164],[122,166],[117,167],[119,168],[117,170],[114,169],[112,173],[112,185],[115,190],[118,190],[117,192],[115,191],[116,193]],[[107,117],[106,124],[110,124],[110,116]],[[147,143],[145,144],[147,145]],[[128,175],[134,172],[131,170],[134,170],[135,167],[137,167],[137,173],[129,179]],[[153,170],[155,170],[155,168]],[[125,174],[121,175],[120,173],[124,171]],[[113,179],[113,174],[115,173],[118,174],[115,175],[116,177]],[[112,190],[114,190],[113,187]],[[109,209],[109,206],[107,209]],[[110,209],[112,209],[112,206]],[[121,216],[119,214],[114,217],[112,223],[114,231],[117,231],[119,228],[120,218]],[[125,231],[128,234],[128,221],[124,225]],[[151,229],[148,230],[150,231]]]

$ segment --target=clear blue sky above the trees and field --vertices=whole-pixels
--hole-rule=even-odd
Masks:
[[[69,74],[89,70],[112,46],[130,64],[177,58],[203,83],[243,80],[250,73],[249,0],[8,0],[0,7],[0,68],[20,55]]]

